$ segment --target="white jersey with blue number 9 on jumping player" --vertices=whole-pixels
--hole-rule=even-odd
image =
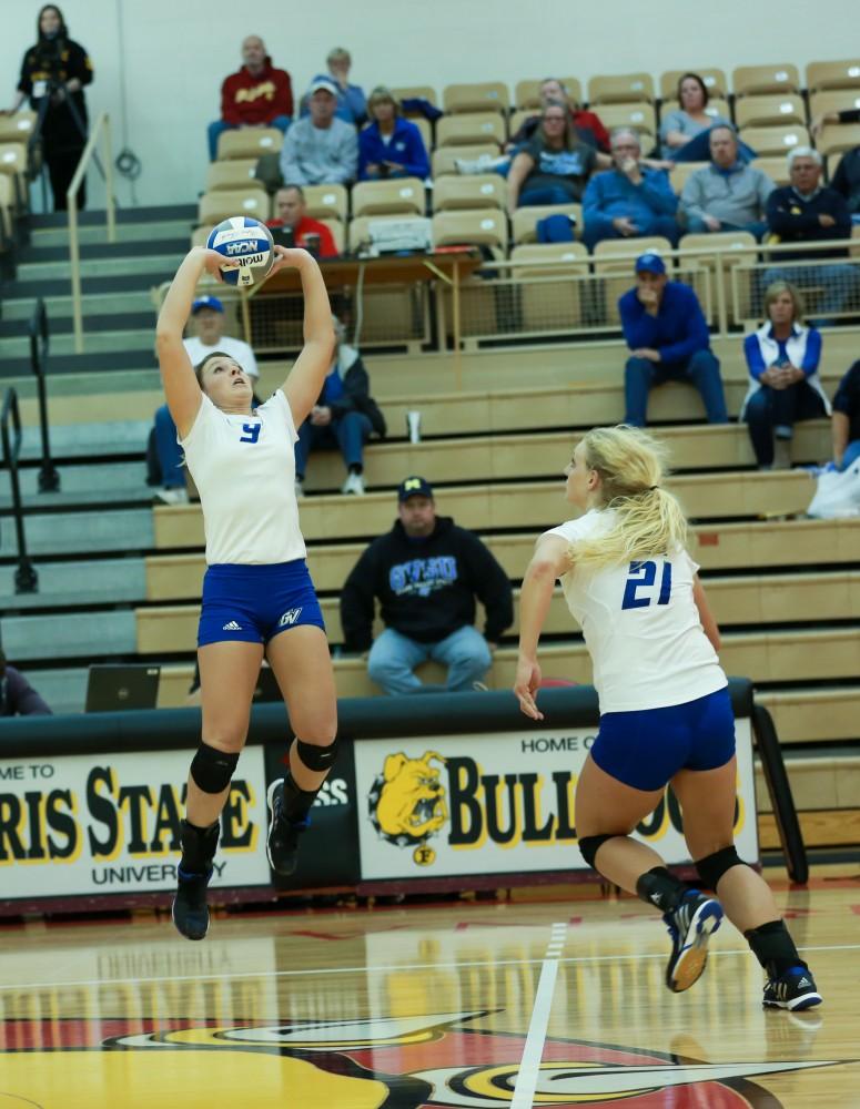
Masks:
[[[295,501],[297,438],[281,389],[251,416],[222,413],[203,395],[179,441],[200,492],[210,566],[305,557]]]

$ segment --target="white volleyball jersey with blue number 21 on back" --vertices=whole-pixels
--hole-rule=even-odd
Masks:
[[[615,513],[591,510],[547,531],[568,542],[599,536]],[[728,681],[692,599],[698,566],[678,547],[666,558],[597,570],[574,563],[561,578],[591,655],[600,712],[685,704]]]

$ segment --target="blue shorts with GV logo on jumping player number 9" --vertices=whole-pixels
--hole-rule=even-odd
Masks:
[[[265,566],[217,564],[206,570],[198,647],[267,643],[300,624],[325,631],[304,559]]]

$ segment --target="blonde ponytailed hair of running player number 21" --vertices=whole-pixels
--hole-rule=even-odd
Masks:
[[[599,569],[659,558],[687,542],[687,519],[662,488],[666,449],[638,427],[596,427],[581,439],[585,465],[600,476],[600,508],[617,513],[607,532],[571,547],[577,566]]]

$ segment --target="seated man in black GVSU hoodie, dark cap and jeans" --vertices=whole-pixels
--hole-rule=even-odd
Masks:
[[[436,515],[433,489],[424,478],[401,482],[397,516],[343,587],[346,649],[370,648],[367,672],[393,695],[473,689],[514,621],[507,574],[477,536]],[[474,627],[476,597],[486,610],[483,635]],[[373,640],[376,598],[385,630]],[[424,685],[414,673],[426,659],[448,668],[444,686]]]

